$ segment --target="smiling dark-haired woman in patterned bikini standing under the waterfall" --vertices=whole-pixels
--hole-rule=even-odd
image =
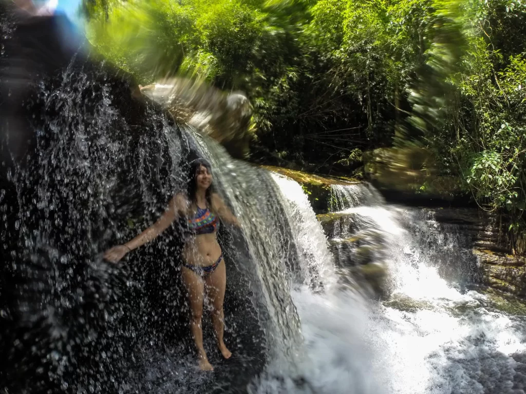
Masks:
[[[183,283],[188,292],[191,309],[191,332],[197,346],[199,367],[211,371],[203,348],[203,299],[205,290],[213,305],[212,322],[216,331],[217,344],[221,354],[230,358],[231,353],[223,341],[226,270],[221,248],[217,243],[218,217],[225,222],[240,226],[237,218],[230,212],[212,188],[210,164],[204,159],[191,162],[187,194],[176,194],[168,204],[167,210],[151,227],[137,235],[133,240],[115,246],[104,254],[110,262],[118,262],[128,252],[155,239],[175,220],[184,217],[188,223],[189,234],[183,249],[184,264],[181,268]]]

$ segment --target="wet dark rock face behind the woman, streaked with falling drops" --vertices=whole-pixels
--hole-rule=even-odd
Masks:
[[[0,29],[0,391],[148,392],[144,368],[156,354],[194,364],[180,226],[125,264],[102,253],[157,220],[185,187],[196,149],[135,94],[133,78],[90,54],[65,17],[2,3]],[[240,242],[221,231],[221,246]],[[236,324],[226,340],[253,355],[251,365],[216,360],[224,374],[197,379],[199,390],[246,387],[265,362],[246,279],[227,267],[236,291],[225,314]],[[173,370],[160,379],[194,385]]]

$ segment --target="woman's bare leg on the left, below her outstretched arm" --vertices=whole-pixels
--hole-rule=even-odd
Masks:
[[[191,269],[181,268],[181,276],[183,283],[188,292],[188,301],[192,312],[190,320],[190,329],[194,336],[194,341],[197,347],[197,354],[199,356],[199,368],[204,371],[211,371],[214,368],[210,365],[206,357],[205,348],[203,347],[203,326],[201,320],[203,318],[203,298],[205,293],[205,284],[199,275]]]

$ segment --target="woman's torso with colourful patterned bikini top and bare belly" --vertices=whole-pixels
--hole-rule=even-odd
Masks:
[[[219,217],[208,207],[203,209],[197,206],[186,217],[189,234],[186,238],[183,258],[186,264],[205,267],[216,262],[221,254],[217,242]]]

